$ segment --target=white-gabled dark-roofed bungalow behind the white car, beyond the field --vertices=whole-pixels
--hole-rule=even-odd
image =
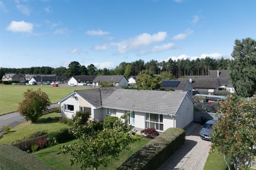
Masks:
[[[87,85],[87,83],[91,83],[97,76],[72,76],[69,78],[67,84],[75,84],[75,85]]]

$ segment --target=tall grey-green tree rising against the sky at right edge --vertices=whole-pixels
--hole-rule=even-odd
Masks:
[[[250,97],[256,94],[256,41],[251,38],[236,39],[229,62],[228,73],[231,85],[238,95]]]

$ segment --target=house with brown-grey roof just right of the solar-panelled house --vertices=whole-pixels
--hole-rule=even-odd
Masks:
[[[188,80],[188,79],[178,79],[178,80]],[[208,90],[219,90],[220,82],[219,79],[189,79],[190,83],[193,85],[194,90],[208,89]],[[209,91],[212,92],[213,91]]]

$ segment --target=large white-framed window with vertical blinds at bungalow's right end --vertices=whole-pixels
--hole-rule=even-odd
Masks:
[[[164,131],[163,115],[146,113],[145,124],[145,128],[155,128],[158,131]]]

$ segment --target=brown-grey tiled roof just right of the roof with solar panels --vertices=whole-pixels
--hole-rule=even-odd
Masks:
[[[178,80],[189,80],[189,79],[178,79]],[[192,85],[194,88],[216,88],[219,79],[192,79]]]

